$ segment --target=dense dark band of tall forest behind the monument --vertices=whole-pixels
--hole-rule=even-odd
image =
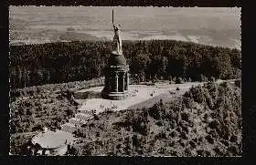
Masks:
[[[111,41],[10,46],[11,88],[102,77]],[[174,40],[123,41],[123,55],[139,81],[181,77],[240,77],[240,50]]]

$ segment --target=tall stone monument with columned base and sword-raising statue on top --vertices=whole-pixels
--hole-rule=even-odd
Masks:
[[[103,98],[121,100],[128,97],[129,66],[123,56],[121,26],[113,23],[113,51],[105,69],[105,86],[101,92]]]

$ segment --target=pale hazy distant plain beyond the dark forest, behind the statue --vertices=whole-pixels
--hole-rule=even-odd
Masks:
[[[124,40],[174,39],[240,49],[238,7],[10,6],[10,42],[110,40],[112,9]]]

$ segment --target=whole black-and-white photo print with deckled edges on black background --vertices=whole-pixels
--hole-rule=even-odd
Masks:
[[[240,7],[9,6],[9,155],[240,157]]]

